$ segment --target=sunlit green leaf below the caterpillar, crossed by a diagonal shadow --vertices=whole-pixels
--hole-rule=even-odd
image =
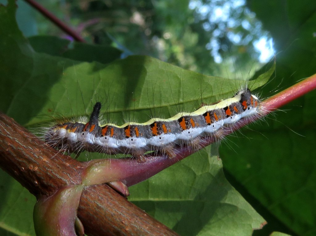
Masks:
[[[213,149],[130,187],[130,200],[180,235],[251,235],[264,220],[225,179]]]

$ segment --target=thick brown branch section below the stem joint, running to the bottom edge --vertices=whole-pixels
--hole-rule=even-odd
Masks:
[[[113,197],[116,195],[108,185],[91,185],[83,191],[78,217],[88,235],[178,235],[124,197]],[[88,222],[91,220],[93,224]]]

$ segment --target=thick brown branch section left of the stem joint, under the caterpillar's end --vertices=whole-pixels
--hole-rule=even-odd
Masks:
[[[83,162],[56,154],[39,138],[2,113],[0,143],[1,168],[35,196],[49,196],[64,185],[76,185],[82,181],[80,172],[84,168]]]

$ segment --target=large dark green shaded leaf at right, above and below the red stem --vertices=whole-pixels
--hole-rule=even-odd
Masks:
[[[262,90],[263,96],[316,73],[316,2],[247,2],[279,51],[276,77]],[[234,186],[245,190],[243,196],[255,208],[258,202],[262,204],[259,212],[268,225],[255,235],[276,230],[315,235],[315,101],[313,91],[281,107],[266,122],[242,129],[246,138],[229,139],[236,154],[225,145],[220,149],[224,168],[240,184]]]

